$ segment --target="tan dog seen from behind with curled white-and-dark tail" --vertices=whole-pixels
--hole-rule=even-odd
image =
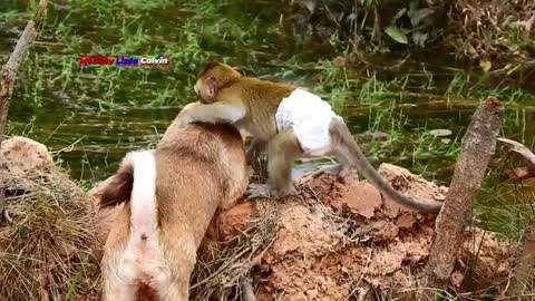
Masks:
[[[176,118],[155,151],[128,153],[99,197],[100,208],[120,205],[104,247],[103,299],[187,301],[212,216],[247,183],[243,139],[231,125]]]

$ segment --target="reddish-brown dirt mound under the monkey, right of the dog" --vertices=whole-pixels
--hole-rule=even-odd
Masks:
[[[379,172],[406,195],[445,198],[446,187],[405,168],[383,164]],[[244,278],[259,300],[414,300],[435,215],[402,208],[357,178],[304,176],[299,187],[295,197],[246,202],[215,219],[220,237],[207,237],[200,252],[195,300],[232,299]],[[459,291],[499,288],[512,253],[496,235],[467,231],[451,283]]]

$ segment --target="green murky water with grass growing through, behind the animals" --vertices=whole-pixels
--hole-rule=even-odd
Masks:
[[[0,2],[2,61],[36,2]],[[438,55],[412,56],[400,68],[390,68],[401,59],[396,54],[382,55],[341,69],[329,62],[340,46],[293,37],[289,11],[273,1],[54,1],[19,72],[10,134],[46,144],[75,178],[101,179],[127,151],[158,140],[194,99],[197,69],[216,58],[254,76],[312,88],[333,103],[354,134],[388,134],[359,137],[373,164],[396,163],[449,181],[455,143],[478,101],[495,94],[506,106],[504,136],[534,146],[529,82],[480,80]],[[164,52],[171,67],[78,68],[78,54],[88,52]],[[432,129],[451,135],[436,137]]]

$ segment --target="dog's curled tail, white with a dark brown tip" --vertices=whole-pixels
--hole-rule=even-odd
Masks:
[[[150,151],[128,153],[104,188],[99,205],[113,207],[121,203],[145,203],[156,197],[156,162]],[[146,200],[146,201],[143,201]],[[152,202],[154,203],[154,202]]]

